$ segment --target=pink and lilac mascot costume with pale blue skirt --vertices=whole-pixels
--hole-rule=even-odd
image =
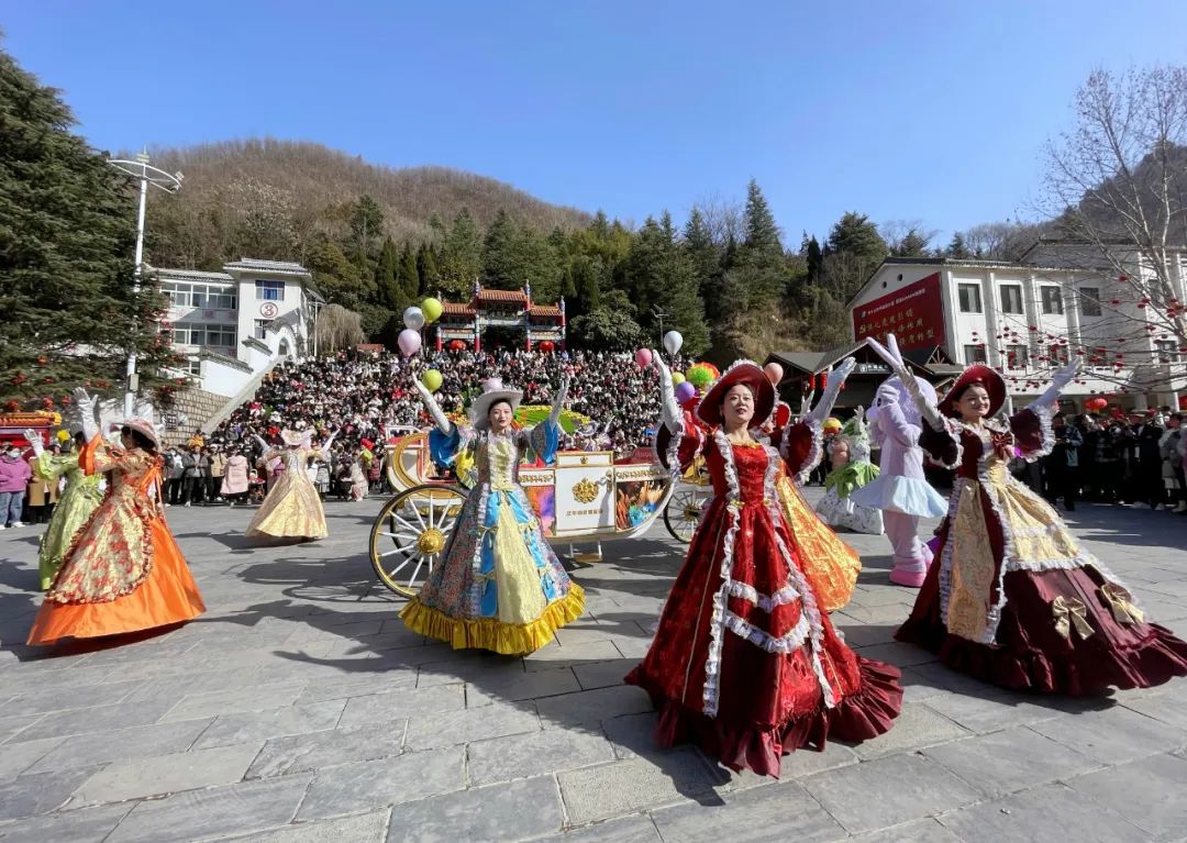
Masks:
[[[887,343],[897,356],[894,336],[888,336]],[[919,387],[934,404],[932,385],[919,381]],[[882,449],[880,474],[855,489],[850,497],[859,506],[882,509],[887,538],[894,547],[890,582],[919,588],[932,563],[932,551],[919,540],[919,519],[945,515],[948,505],[923,477],[923,450],[919,446],[921,418],[899,378],[882,382],[867,418],[870,435]]]

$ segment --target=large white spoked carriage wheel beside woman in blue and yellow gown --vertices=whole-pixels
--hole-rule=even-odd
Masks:
[[[375,576],[396,594],[413,597],[445,552],[465,493],[453,486],[414,486],[383,505],[372,525]]]

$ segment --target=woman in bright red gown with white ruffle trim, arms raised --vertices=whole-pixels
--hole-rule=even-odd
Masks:
[[[774,406],[761,368],[741,361],[722,375],[698,406],[702,427],[686,423],[654,359],[660,458],[678,468],[703,454],[713,482],[650,649],[627,677],[659,709],[658,742],[693,741],[731,769],[777,778],[780,756],[799,747],[887,731],[902,703],[899,670],[856,655],[833,630],[774,489],[781,461],[793,475],[819,461],[821,423],[852,360],[830,379],[831,397],[785,430],[780,456],[750,435]]]

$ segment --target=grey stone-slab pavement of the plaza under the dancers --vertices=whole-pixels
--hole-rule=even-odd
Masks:
[[[810,495],[815,490],[810,490]],[[1187,679],[1077,701],[1009,693],[894,644],[913,592],[888,545],[834,616],[903,668],[878,740],[783,760],[779,781],[658,750],[622,684],[680,564],[659,530],[576,565],[588,615],[527,659],[410,634],[369,588],[379,500],[329,503],[331,538],[250,547],[250,509],[169,520],[209,611],[52,657],[23,646],[39,528],[0,533],[0,839],[1187,839]],[[1187,634],[1187,518],[1083,506],[1073,524],[1149,614]]]

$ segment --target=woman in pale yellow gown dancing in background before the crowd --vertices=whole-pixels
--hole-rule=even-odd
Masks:
[[[267,442],[259,436],[255,437],[256,443],[264,449],[264,461],[280,458],[284,461],[285,470],[280,473],[280,477],[248,525],[248,538],[313,541],[330,534],[325,526],[322,497],[317,494],[313,481],[309,478],[305,465],[310,458],[329,459],[330,445],[337,431],[326,439],[320,450],[310,448],[311,436],[312,431],[304,433],[296,430],[280,431],[280,438],[286,445],[284,450],[269,448]]]

